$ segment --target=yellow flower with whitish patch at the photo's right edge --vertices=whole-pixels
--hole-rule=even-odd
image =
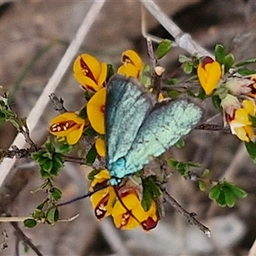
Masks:
[[[230,119],[230,129],[232,134],[241,139],[241,141],[249,142],[253,140],[253,124],[249,119],[249,116],[255,115],[256,106],[255,103],[249,100],[242,102],[242,108],[236,110],[234,119]]]

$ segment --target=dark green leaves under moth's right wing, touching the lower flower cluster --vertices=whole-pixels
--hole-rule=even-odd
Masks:
[[[161,194],[162,192],[155,176],[149,176],[143,179],[142,206],[146,212],[148,212],[152,201],[159,198]]]

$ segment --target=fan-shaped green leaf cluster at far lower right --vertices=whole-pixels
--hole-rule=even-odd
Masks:
[[[234,207],[238,199],[243,199],[247,193],[235,184],[222,181],[213,186],[209,198],[216,201],[220,207]]]

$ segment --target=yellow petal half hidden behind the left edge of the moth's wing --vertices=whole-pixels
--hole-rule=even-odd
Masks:
[[[96,92],[87,103],[87,116],[92,128],[100,133],[105,134],[105,105],[106,105],[107,89],[103,88]]]

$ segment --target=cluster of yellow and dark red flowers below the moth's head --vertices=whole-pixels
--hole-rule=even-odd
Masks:
[[[109,178],[108,170],[102,170],[94,176],[89,190],[92,192],[108,184]],[[129,182],[131,181],[116,187],[119,196],[116,195],[112,186],[96,191],[90,196],[96,218],[101,220],[112,215],[116,227],[123,230],[135,229],[139,225],[143,230],[154,229],[159,219],[155,202],[152,200],[148,212],[145,212],[137,195],[137,189]]]

